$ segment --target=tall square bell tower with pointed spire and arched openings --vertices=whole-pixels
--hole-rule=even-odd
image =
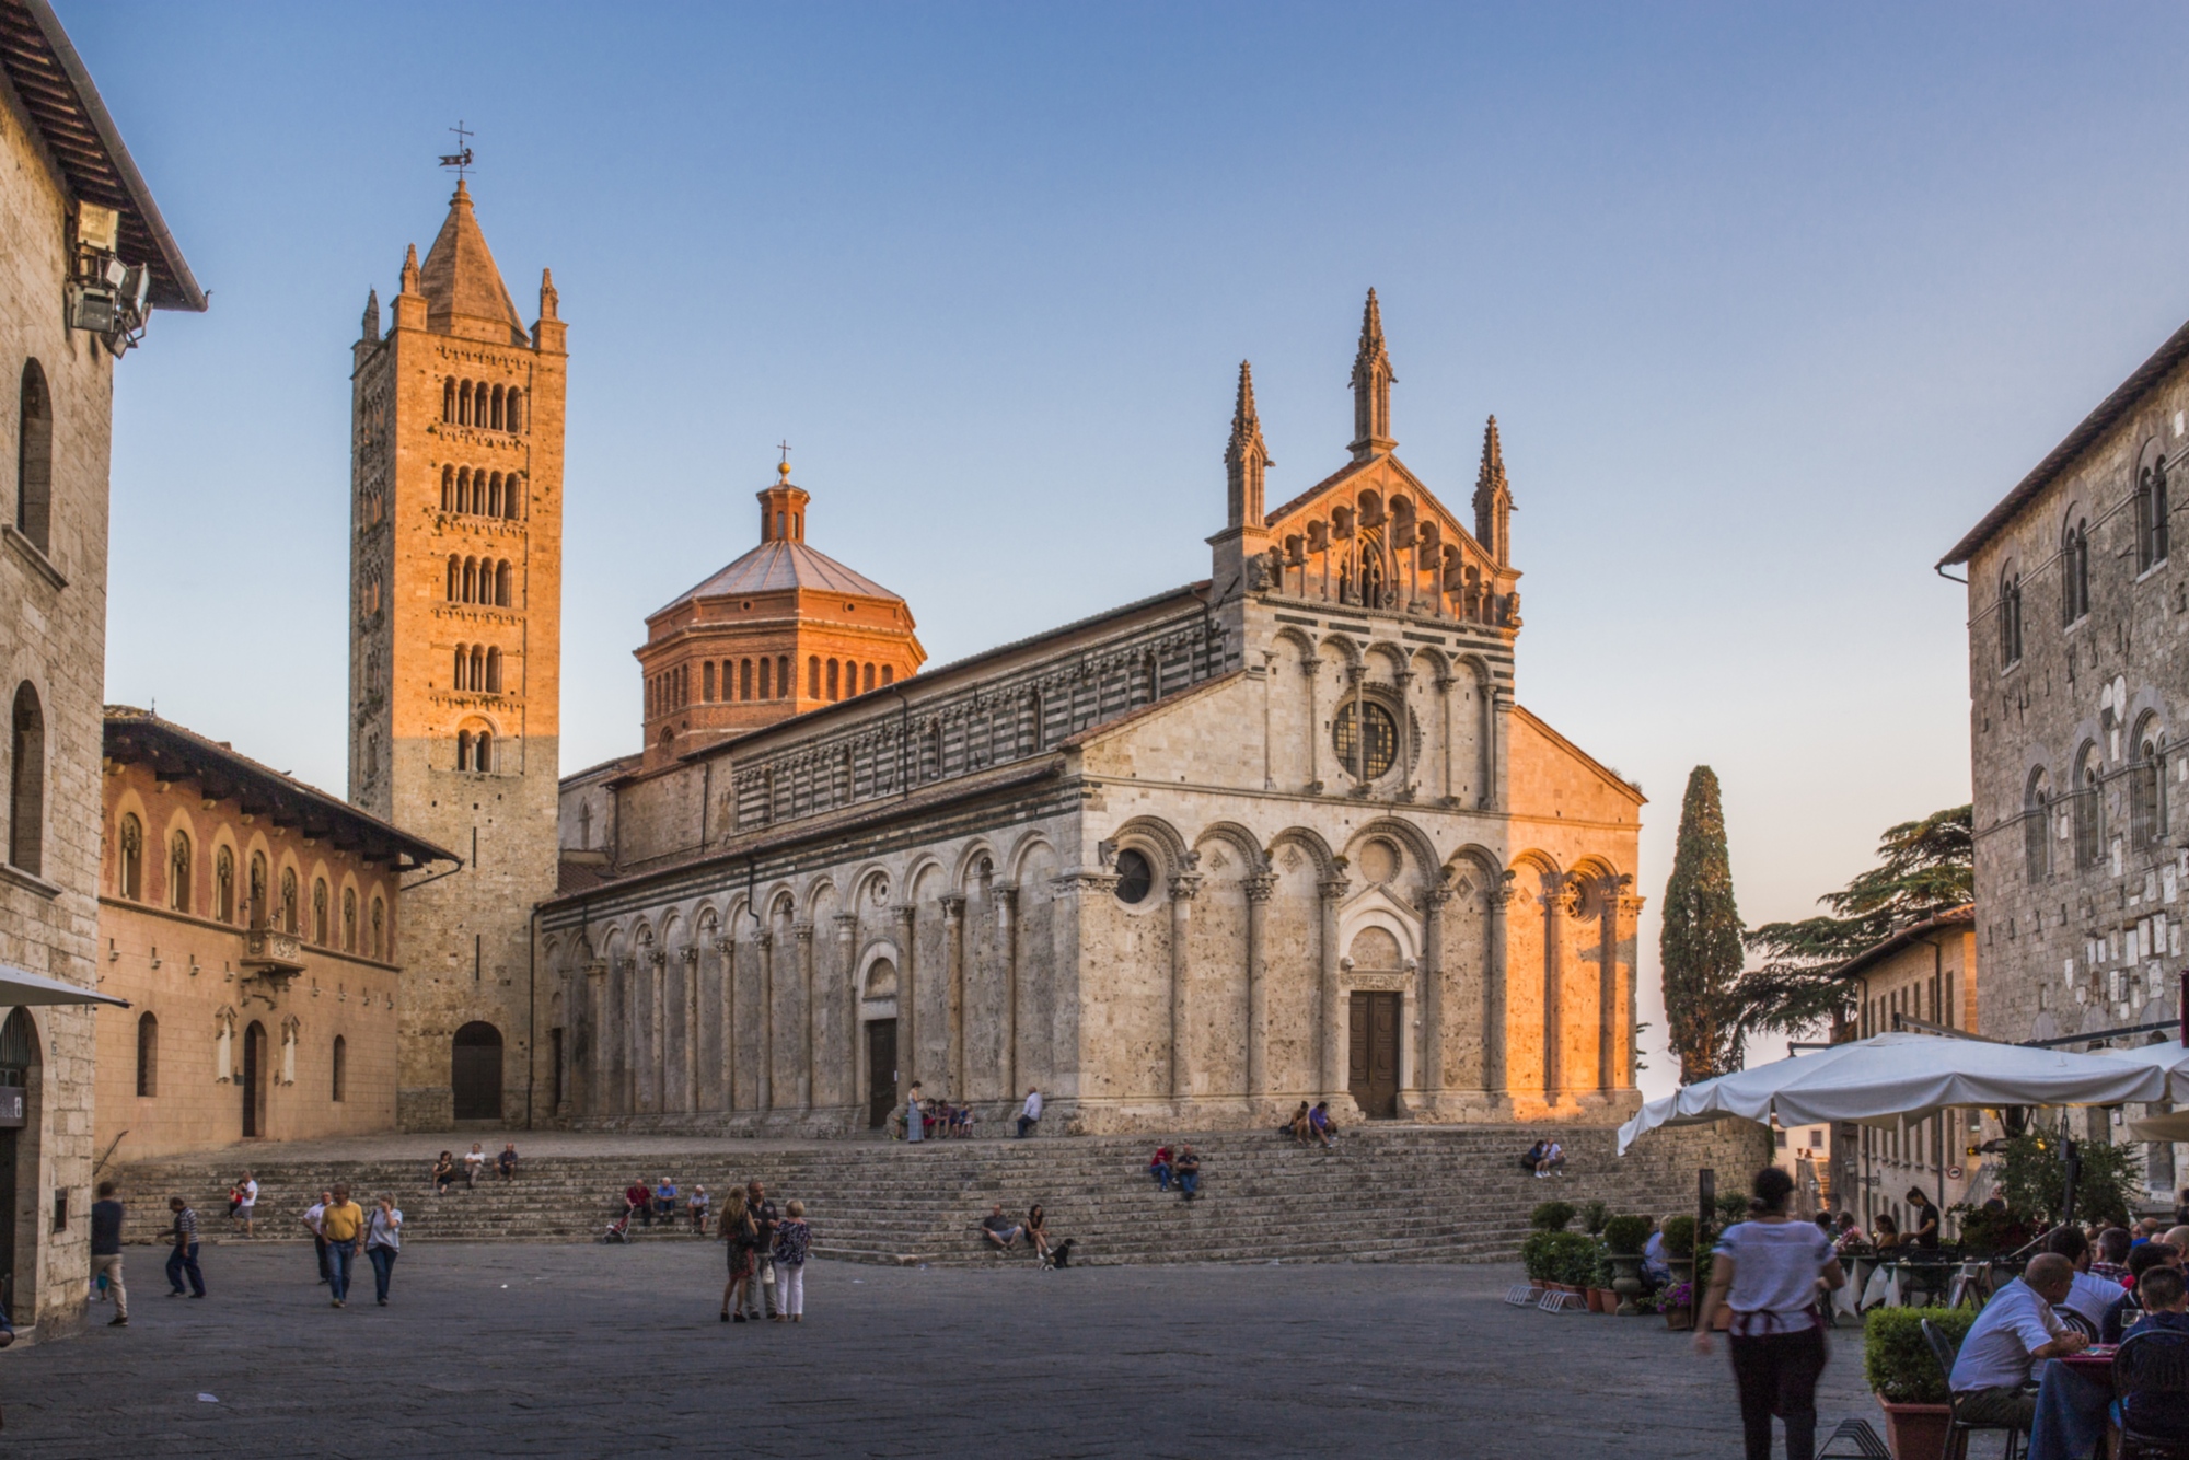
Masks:
[[[525,328],[471,190],[350,376],[350,801],[455,851],[407,891],[396,1114],[525,1119],[532,906],[556,891],[565,324]],[[532,1110],[552,1116],[552,1110]]]

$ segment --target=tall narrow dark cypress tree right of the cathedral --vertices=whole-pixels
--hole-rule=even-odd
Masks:
[[[1688,775],[1657,950],[1679,1081],[1686,1086],[1738,1068],[1742,1040],[1740,1022],[1731,1018],[1731,989],[1745,954],[1734,867],[1725,854],[1725,812],[1710,766]]]

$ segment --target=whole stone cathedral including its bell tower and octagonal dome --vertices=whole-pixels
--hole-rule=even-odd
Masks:
[[[641,744],[560,781],[554,287],[521,324],[458,186],[355,361],[350,799],[464,858],[405,889],[407,1127],[1635,1105],[1642,792],[1515,700],[1497,422],[1462,523],[1373,291],[1346,460],[1274,510],[1239,368],[1206,580],[926,670],[784,464],[648,617]]]

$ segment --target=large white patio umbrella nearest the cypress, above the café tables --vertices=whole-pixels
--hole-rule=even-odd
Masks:
[[[1896,1125],[1953,1108],[2163,1099],[2167,1073],[2158,1066],[1898,1031],[1773,1059],[1651,1101],[1620,1127],[1620,1154],[1657,1125],[1725,1116],[1762,1123],[1775,1116],[1780,1125]]]

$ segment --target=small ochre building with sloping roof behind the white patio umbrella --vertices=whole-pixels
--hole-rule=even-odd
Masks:
[[[1977,911],[1909,924],[1843,963],[1839,976],[1856,1009],[1852,1038],[1904,1029],[1904,1020],[1979,1033]],[[1970,1200],[1981,1160],[1968,1147],[1985,1140],[1977,1114],[1948,1110],[1896,1129],[1841,1123],[1830,1143],[1839,1206],[1867,1228],[1878,1213],[1907,1221],[1909,1186],[1922,1186],[1942,1210]]]

